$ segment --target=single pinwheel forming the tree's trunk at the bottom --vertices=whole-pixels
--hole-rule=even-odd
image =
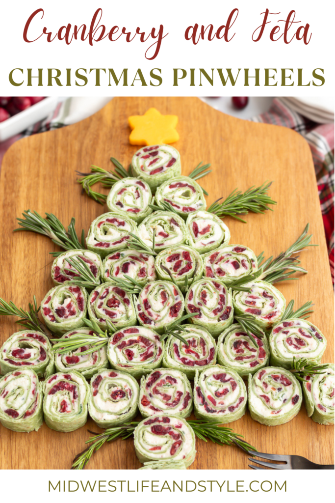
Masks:
[[[190,466],[195,458],[193,429],[180,417],[157,414],[146,418],[134,431],[135,452],[146,461],[183,461]]]

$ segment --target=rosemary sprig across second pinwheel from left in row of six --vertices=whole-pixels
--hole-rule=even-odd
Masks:
[[[103,331],[94,320],[84,319],[84,322],[96,335],[90,336],[89,334],[77,333],[68,338],[51,339],[51,342],[55,343],[52,348],[53,351],[63,355],[64,353],[75,351],[76,349],[89,345],[90,348],[88,350],[80,353],[81,355],[88,355],[94,351],[100,350],[108,344],[111,333],[115,331],[113,326],[110,327],[108,325],[108,329]]]

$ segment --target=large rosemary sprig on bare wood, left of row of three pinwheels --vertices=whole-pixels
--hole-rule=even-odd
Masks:
[[[53,243],[58,244],[66,250],[85,248],[84,229],[81,232],[80,242],[74,228],[75,219],[73,217],[66,230],[62,222],[52,213],[46,213],[46,218],[43,218],[37,211],[25,210],[22,215],[23,218],[17,218],[21,227],[14,229],[14,232],[28,230],[43,234],[50,237]],[[50,252],[54,257],[57,257],[61,253],[62,251]]]

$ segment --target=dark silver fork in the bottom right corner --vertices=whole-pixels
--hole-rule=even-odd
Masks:
[[[284,464],[277,465],[275,463],[268,463],[266,461],[259,461],[258,459],[248,458],[249,461],[257,463],[262,466],[266,466],[267,468],[273,468],[275,470],[333,470],[334,465],[318,465],[309,461],[302,456],[294,456],[294,455],[283,455],[283,454],[266,454],[264,452],[257,451],[249,451],[246,449],[248,454],[252,456],[257,456],[259,458],[270,459],[272,461],[284,461]],[[264,470],[265,468],[261,468],[260,466],[248,465],[253,470]]]

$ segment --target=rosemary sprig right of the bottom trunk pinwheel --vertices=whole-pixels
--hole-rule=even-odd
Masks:
[[[243,435],[235,433],[232,428],[225,428],[220,426],[220,423],[211,423],[209,421],[191,420],[187,423],[192,427],[195,435],[207,442],[207,439],[219,445],[232,445],[233,443],[242,449],[250,449],[257,451],[253,446],[241,439]]]

